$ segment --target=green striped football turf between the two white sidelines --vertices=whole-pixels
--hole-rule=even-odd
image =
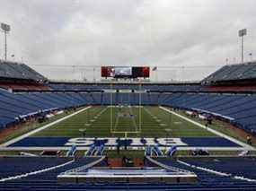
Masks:
[[[159,107],[93,106],[33,136],[81,137],[216,136]]]

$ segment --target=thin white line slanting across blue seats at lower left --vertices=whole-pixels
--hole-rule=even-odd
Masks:
[[[66,163],[59,164],[59,165],[54,166],[54,167],[49,167],[47,169],[40,169],[40,170],[32,171],[32,172],[29,172],[29,173],[24,173],[24,174],[21,174],[21,175],[16,175],[16,176],[13,176],[13,177],[2,178],[2,179],[0,179],[0,182],[5,182],[5,181],[8,181],[8,180],[19,179],[19,178],[25,178],[25,177],[28,177],[28,176],[31,176],[31,175],[36,175],[36,174],[40,174],[42,172],[47,172],[47,171],[52,170],[52,169],[58,169],[58,168],[66,166],[68,164],[71,164],[74,161],[75,160],[67,161]]]

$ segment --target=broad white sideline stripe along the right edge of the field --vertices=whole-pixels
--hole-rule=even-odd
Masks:
[[[159,108],[160,108],[160,109],[163,109],[163,110],[165,110],[165,111],[167,111],[167,112],[169,112],[169,113],[172,113],[173,115],[175,115],[175,116],[177,116],[177,117],[181,117],[182,119],[184,119],[184,120],[186,120],[186,121],[189,121],[190,123],[192,123],[192,124],[194,124],[194,125],[196,125],[196,126],[199,126],[199,127],[203,128],[203,129],[206,129],[207,131],[209,131],[209,132],[211,132],[211,133],[213,133],[213,134],[215,134],[215,135],[224,137],[225,139],[227,139],[227,140],[229,140],[229,141],[232,141],[232,142],[234,142],[234,143],[237,143],[237,144],[241,145],[245,150],[249,150],[249,151],[254,151],[254,150],[255,150],[254,147],[252,147],[252,146],[250,146],[250,145],[248,145],[248,144],[246,144],[246,143],[243,143],[243,142],[241,142],[241,141],[238,141],[238,140],[234,139],[233,137],[228,136],[228,135],[225,135],[225,134],[223,134],[223,133],[220,133],[220,132],[218,132],[218,131],[216,131],[216,130],[210,128],[210,127],[203,126],[203,125],[201,125],[199,122],[193,121],[193,120],[191,120],[191,119],[188,118],[188,117],[181,116],[180,114],[177,114],[177,113],[171,111],[170,109],[163,108],[162,106],[160,106]]]

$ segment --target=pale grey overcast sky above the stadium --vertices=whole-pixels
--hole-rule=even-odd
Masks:
[[[10,60],[51,79],[93,79],[99,65],[159,66],[153,80],[200,80],[256,57],[255,0],[1,0]],[[4,33],[0,38],[4,56]],[[249,54],[252,53],[252,57]],[[15,55],[11,57],[11,55]],[[75,65],[71,67],[70,65]],[[77,66],[80,65],[80,66]]]

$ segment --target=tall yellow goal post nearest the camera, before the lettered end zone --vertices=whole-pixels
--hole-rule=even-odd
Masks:
[[[110,134],[139,135],[142,130],[142,85],[137,90],[115,90],[110,84]]]

